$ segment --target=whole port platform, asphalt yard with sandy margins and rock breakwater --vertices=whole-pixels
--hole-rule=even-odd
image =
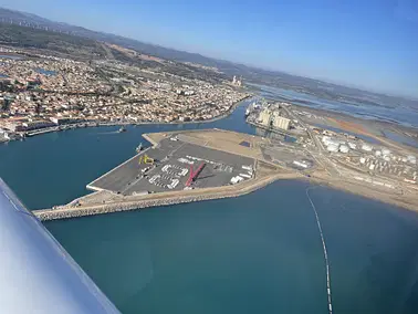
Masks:
[[[258,136],[220,129],[145,134],[151,147],[87,185],[94,192],[32,211],[54,220],[232,198],[303,176],[264,160]]]

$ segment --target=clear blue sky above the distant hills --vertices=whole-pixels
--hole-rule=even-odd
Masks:
[[[418,0],[0,0],[0,7],[418,98]]]

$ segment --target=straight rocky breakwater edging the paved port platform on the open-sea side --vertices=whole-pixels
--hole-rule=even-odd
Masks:
[[[161,198],[161,199],[145,199],[145,200],[137,200],[137,201],[121,201],[107,205],[92,205],[92,206],[84,206],[84,207],[60,207],[56,209],[41,209],[41,210],[33,210],[32,213],[38,217],[41,221],[45,220],[56,220],[56,219],[69,219],[69,218],[77,218],[84,216],[93,216],[93,214],[102,214],[102,213],[112,213],[112,212],[119,212],[119,211],[130,211],[137,209],[145,209],[149,207],[157,207],[157,206],[171,206],[178,203],[187,203],[194,201],[203,201],[203,200],[213,200],[213,199],[222,199],[222,198],[233,198],[238,196],[242,196],[245,193],[250,193],[257,189],[260,189],[273,181],[279,179],[279,177],[268,177],[261,179],[257,182],[253,182],[250,186],[242,187],[241,189],[237,189],[236,186],[234,190],[230,191],[218,191],[218,192],[205,192],[202,190],[201,195],[198,196],[177,196],[171,198]]]

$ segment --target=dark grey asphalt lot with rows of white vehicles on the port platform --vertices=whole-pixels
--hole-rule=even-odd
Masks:
[[[234,182],[250,179],[253,176],[253,164],[252,158],[171,137],[119,165],[87,188],[130,196],[185,188],[220,187],[230,185],[232,178],[240,178],[233,179]],[[191,181],[190,174],[198,169],[200,171],[196,180]]]

